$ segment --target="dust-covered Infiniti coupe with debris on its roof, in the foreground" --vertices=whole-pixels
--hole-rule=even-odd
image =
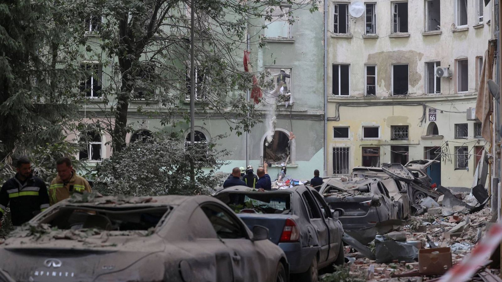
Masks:
[[[288,281],[268,230],[249,231],[213,197],[82,198],[13,231],[0,268],[18,282]]]

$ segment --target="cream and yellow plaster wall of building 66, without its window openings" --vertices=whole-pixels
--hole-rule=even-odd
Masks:
[[[361,147],[379,146],[381,163],[391,161],[391,146],[409,146],[409,160],[423,159],[425,147],[441,146],[448,142],[450,161],[441,164],[441,184],[448,187],[471,187],[474,175],[473,146],[483,146],[484,139],[474,138],[474,122],[466,120],[468,107],[475,107],[478,72],[475,59],[483,56],[491,38],[492,27],[487,24],[492,15],[492,3],[484,7],[484,23],[477,25],[474,0],[468,0],[468,28],[457,30],[454,23],[455,0],[441,0],[441,32],[424,33],[425,1],[408,2],[408,34],[399,37],[391,34],[392,1],[376,2],[376,33],[378,38],[364,35],[364,14],[360,18],[350,17],[349,35],[333,34],[333,4],[330,2],[328,31],[328,129],[327,168],[333,172],[333,147],[349,147],[349,168],[361,165]],[[468,91],[457,93],[457,59],[468,59]],[[426,93],[426,63],[440,61],[442,67],[450,67],[451,78],[441,78],[440,94]],[[350,95],[331,96],[332,64],[350,64]],[[376,65],[376,95],[364,96],[366,64]],[[409,64],[409,96],[392,96],[392,65]],[[421,123],[422,105],[404,106],[393,103],[417,102],[426,108],[426,121]],[[352,103],[353,106],[343,106]],[[360,106],[357,105],[360,103]],[[371,103],[380,105],[366,106]],[[336,105],[341,104],[339,112]],[[383,104],[383,105],[382,105]],[[387,105],[389,104],[389,105]],[[426,135],[427,111],[435,107],[437,126],[442,139],[422,138]],[[447,112],[452,111],[452,112]],[[454,124],[468,124],[468,139],[455,139]],[[380,125],[379,140],[362,140],[363,125]],[[334,139],[333,126],[350,126],[349,139]],[[408,125],[409,140],[391,140],[392,125]],[[458,170],[454,166],[454,147],[468,142],[470,152],[469,170]]]

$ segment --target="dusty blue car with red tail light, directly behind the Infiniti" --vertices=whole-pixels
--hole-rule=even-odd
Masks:
[[[214,197],[234,209],[247,226],[263,225],[269,239],[286,253],[292,280],[318,280],[318,270],[343,264],[343,228],[312,187],[261,192],[244,186],[225,188]]]

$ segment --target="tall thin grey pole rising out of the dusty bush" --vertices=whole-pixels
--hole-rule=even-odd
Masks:
[[[190,146],[195,146],[195,2],[190,2]],[[190,161],[190,186],[195,189],[195,165]]]

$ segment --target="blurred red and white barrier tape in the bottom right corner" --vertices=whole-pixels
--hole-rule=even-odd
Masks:
[[[502,240],[502,223],[491,226],[488,234],[477,243],[462,261],[446,272],[439,282],[464,282],[472,277]]]

